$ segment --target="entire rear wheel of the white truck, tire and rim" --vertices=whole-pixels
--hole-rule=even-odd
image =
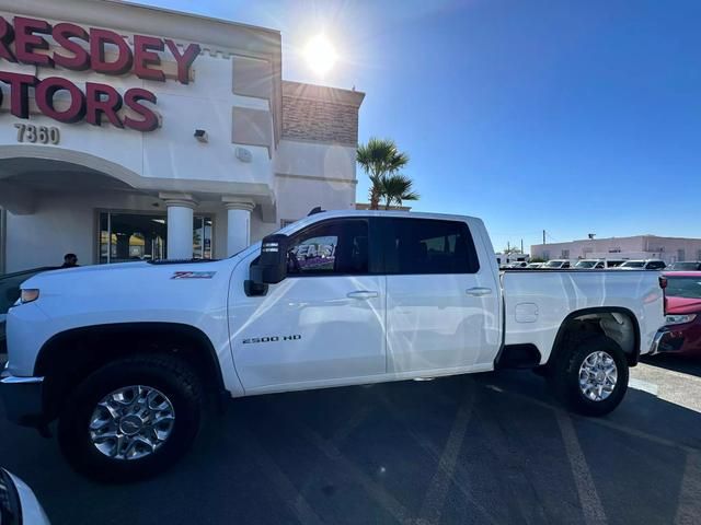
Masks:
[[[628,361],[621,347],[606,336],[595,336],[561,351],[550,383],[573,411],[604,416],[623,400],[628,389]]]

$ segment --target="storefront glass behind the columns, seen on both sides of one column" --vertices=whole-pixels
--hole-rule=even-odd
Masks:
[[[193,258],[211,258],[209,217],[193,221]],[[168,221],[159,213],[100,213],[100,264],[164,259]]]

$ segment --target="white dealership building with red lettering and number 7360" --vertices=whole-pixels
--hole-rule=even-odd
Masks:
[[[277,31],[0,0],[0,272],[220,258],[355,203],[364,94],[281,79]]]

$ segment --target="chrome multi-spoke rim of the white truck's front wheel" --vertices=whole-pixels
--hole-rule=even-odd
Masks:
[[[111,392],[90,418],[90,440],[114,459],[141,459],[157,452],[173,432],[175,410],[165,395],[143,385]]]

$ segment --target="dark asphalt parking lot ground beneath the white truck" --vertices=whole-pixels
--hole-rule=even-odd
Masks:
[[[174,468],[130,485],[73,474],[0,413],[0,465],[55,525],[701,521],[701,364],[633,370],[617,411],[561,410],[530,372],[232,401]]]

